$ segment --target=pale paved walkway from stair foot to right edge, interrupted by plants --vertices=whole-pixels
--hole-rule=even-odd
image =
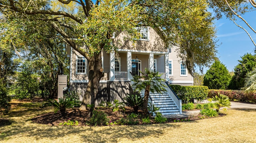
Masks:
[[[222,109],[222,108],[220,108]],[[228,109],[256,109],[256,104],[231,102],[231,106]],[[200,110],[182,112],[182,114],[173,114],[165,116],[166,118],[187,118],[189,116],[197,116],[200,114]]]

